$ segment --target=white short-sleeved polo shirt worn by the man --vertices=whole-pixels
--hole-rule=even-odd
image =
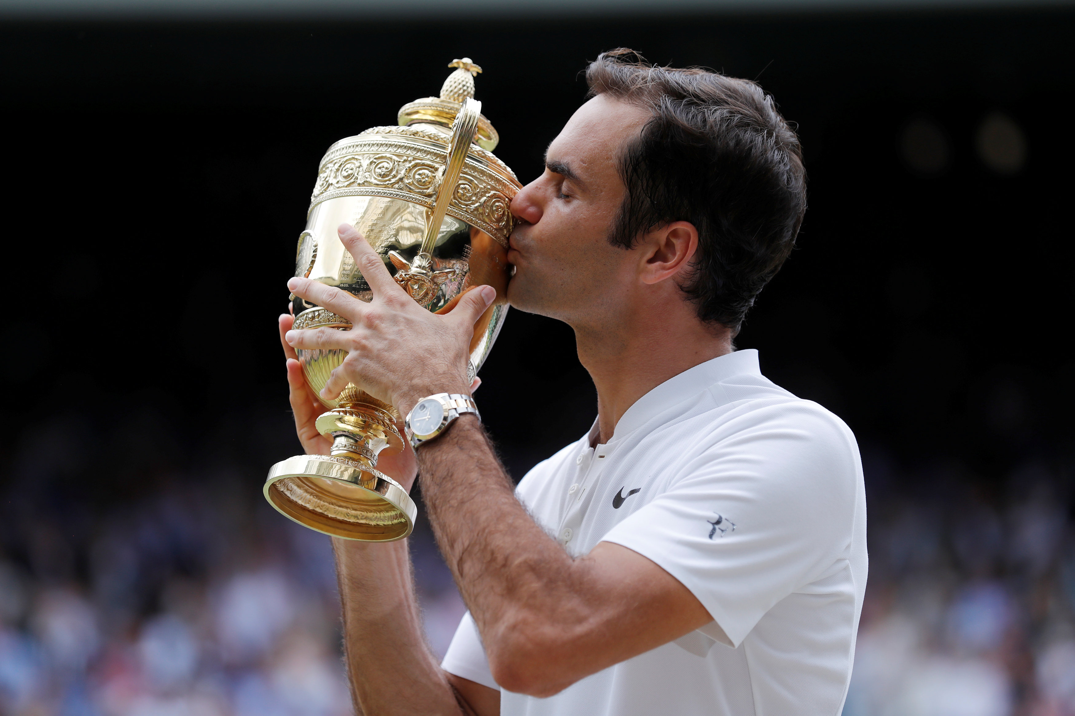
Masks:
[[[547,699],[501,689],[501,714],[840,714],[866,583],[850,429],[744,350],[651,390],[607,444],[596,435],[534,467],[519,499],[573,556],[605,541],[657,562],[715,624]],[[499,688],[469,613],[443,668]]]

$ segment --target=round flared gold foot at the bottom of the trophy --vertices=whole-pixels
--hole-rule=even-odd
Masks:
[[[298,455],[269,470],[264,496],[285,516],[326,535],[367,542],[400,540],[418,509],[388,476],[346,457]]]

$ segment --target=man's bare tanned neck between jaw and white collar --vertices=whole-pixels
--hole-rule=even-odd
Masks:
[[[574,326],[578,360],[598,390],[598,441],[608,442],[634,403],[684,370],[732,351],[731,331],[703,325],[690,313],[621,316],[620,328]]]

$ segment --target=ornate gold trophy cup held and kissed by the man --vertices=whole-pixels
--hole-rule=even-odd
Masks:
[[[398,127],[374,127],[340,140],[321,159],[299,235],[296,276],[339,287],[370,301],[370,286],[336,233],[354,225],[384,258],[407,293],[433,312],[453,308],[468,289],[488,284],[497,299],[474,325],[470,377],[489,354],[507,312],[507,237],[512,198],[521,188],[492,155],[497,131],[474,100],[470,58],[441,88],[403,105]],[[295,328],[350,323],[291,296]],[[299,350],[306,382],[319,394],[346,356],[341,350]],[[320,532],[387,542],[411,534],[416,508],[406,491],[377,471],[377,456],[403,450],[392,406],[347,385],[317,429],[331,437],[331,455],[298,455],[273,465],[264,496],[282,513]]]

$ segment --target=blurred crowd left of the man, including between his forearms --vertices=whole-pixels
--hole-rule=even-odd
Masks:
[[[29,564],[0,562],[0,713],[352,713],[328,538],[216,477],[63,515],[74,525],[40,513],[6,525]],[[411,544],[443,655],[465,607],[426,525]]]

